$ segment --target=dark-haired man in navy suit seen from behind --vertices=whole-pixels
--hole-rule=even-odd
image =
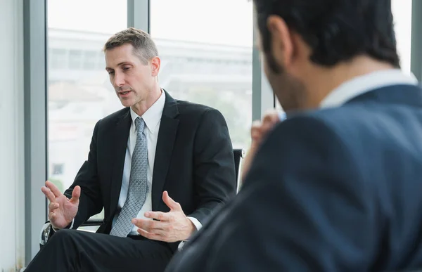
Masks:
[[[287,118],[252,127],[240,192],[166,271],[421,268],[422,89],[390,0],[254,3]]]

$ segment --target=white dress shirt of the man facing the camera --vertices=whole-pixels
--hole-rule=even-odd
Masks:
[[[158,131],[160,130],[160,122],[161,122],[161,115],[162,111],[164,110],[165,105],[165,93],[162,91],[160,98],[158,101],[148,108],[145,113],[142,115],[142,119],[145,122],[145,136],[147,141],[147,150],[148,150],[148,170],[147,170],[147,183],[148,183],[148,191],[146,192],[146,200],[143,203],[141,210],[139,211],[136,218],[139,219],[147,219],[143,214],[145,212],[151,212],[153,203],[151,200],[151,190],[153,188],[153,169],[154,169],[154,160],[155,160],[155,149],[157,147],[157,140],[158,140]],[[132,117],[132,124],[129,130],[129,138],[127,139],[127,148],[126,148],[126,155],[124,157],[124,168],[123,168],[123,176],[122,176],[122,188],[120,190],[119,202],[117,204],[118,209],[122,209],[124,202],[127,198],[127,190],[129,188],[129,177],[130,177],[130,167],[132,164],[132,154],[135,149],[136,143],[136,126],[135,126],[135,119],[139,117],[136,115],[132,108],[130,109],[130,115]],[[160,163],[160,162],[158,162]],[[170,195],[170,197],[172,197]],[[113,225],[117,219],[117,214],[113,218]],[[196,229],[199,230],[202,225],[198,221],[198,219],[193,217],[188,217],[196,226]],[[151,219],[152,220],[152,219]],[[136,231],[138,227],[133,226],[132,231],[129,233],[131,235],[139,235]]]

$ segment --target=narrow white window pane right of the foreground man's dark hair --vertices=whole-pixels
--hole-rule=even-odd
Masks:
[[[402,69],[404,72],[410,72],[411,0],[392,0],[391,9]]]

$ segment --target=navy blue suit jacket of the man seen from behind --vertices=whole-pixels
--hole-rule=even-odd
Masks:
[[[421,193],[422,90],[370,91],[275,127],[166,271],[415,271]]]

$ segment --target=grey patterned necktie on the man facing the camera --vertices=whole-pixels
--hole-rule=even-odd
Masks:
[[[127,190],[126,202],[117,216],[117,220],[110,235],[126,237],[132,227],[132,219],[136,218],[141,210],[148,192],[146,172],[148,170],[148,149],[146,136],[144,134],[145,122],[141,117],[135,119],[136,144],[132,154],[132,165],[130,168],[129,190]]]

